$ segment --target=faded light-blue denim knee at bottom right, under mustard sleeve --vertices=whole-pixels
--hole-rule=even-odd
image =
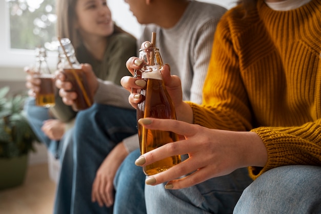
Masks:
[[[247,187],[234,213],[321,213],[321,167],[282,166]]]

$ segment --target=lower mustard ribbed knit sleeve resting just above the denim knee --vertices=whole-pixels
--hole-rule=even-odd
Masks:
[[[268,162],[249,167],[253,179],[265,171],[284,165],[321,165],[321,119],[298,127],[253,129],[268,151]]]

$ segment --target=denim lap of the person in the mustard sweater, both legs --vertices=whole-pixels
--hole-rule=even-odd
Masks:
[[[233,186],[230,179],[221,183],[226,178],[210,179],[179,190],[167,190],[164,184],[146,185],[147,212],[321,213],[320,166],[293,165],[271,169],[253,181],[243,193],[242,186],[246,186],[246,182],[241,182],[243,184],[238,187]],[[224,187],[229,191],[222,191]],[[236,200],[237,192],[239,200]]]

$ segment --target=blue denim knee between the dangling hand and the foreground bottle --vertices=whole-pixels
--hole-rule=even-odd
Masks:
[[[114,214],[146,214],[145,179],[143,168],[135,165],[141,151],[132,151],[117,170]]]

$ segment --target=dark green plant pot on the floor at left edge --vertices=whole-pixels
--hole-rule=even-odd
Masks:
[[[0,158],[0,190],[23,184],[28,167],[28,155]]]

